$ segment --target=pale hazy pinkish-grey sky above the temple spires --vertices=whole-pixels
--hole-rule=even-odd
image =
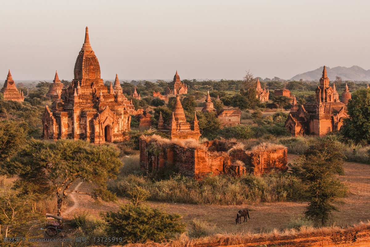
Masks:
[[[0,79],[73,79],[85,27],[101,77],[290,79],[370,69],[369,0],[1,0]]]

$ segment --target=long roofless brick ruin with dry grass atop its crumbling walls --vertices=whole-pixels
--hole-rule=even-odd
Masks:
[[[263,149],[260,155],[255,151],[250,156],[236,142],[215,140],[199,144],[191,141],[169,141],[156,135],[142,136],[139,163],[141,169],[147,172],[175,166],[182,175],[196,179],[210,173],[241,176],[253,172],[259,176],[272,168],[287,170],[287,149],[281,149]],[[251,167],[247,168],[245,163],[250,163]]]

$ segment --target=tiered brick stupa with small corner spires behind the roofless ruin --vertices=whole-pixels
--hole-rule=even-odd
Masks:
[[[198,141],[201,133],[199,131],[198,119],[194,114],[192,123],[188,123],[185,118],[184,108],[182,108],[179,94],[176,96],[172,117],[164,123],[162,113],[159,115],[158,131],[163,132],[176,139],[188,139]]]

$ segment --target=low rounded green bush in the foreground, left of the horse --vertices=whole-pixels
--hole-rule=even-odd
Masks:
[[[167,214],[147,205],[124,204],[117,213],[101,213],[107,222],[107,236],[119,237],[125,243],[161,242],[185,231],[179,214]]]

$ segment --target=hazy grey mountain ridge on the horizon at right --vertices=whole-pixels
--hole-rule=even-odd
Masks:
[[[297,74],[293,76],[290,80],[299,81],[300,79],[309,80],[309,81],[318,81],[323,73],[323,67],[319,69],[308,71],[306,73]],[[330,80],[334,81],[336,76],[342,77],[342,80],[354,80],[354,81],[370,81],[370,70],[364,70],[359,66],[347,67],[326,67],[327,77]]]

